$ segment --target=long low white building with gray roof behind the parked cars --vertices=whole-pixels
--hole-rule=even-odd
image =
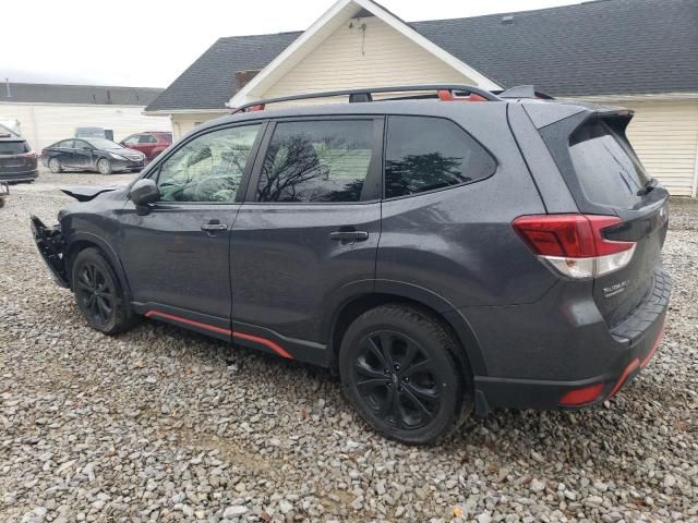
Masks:
[[[75,127],[104,127],[116,141],[140,131],[170,131],[166,117],[143,114],[163,89],[94,85],[0,85],[0,120],[20,121],[35,150],[74,135]]]

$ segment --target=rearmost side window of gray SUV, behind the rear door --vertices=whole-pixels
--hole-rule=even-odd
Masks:
[[[388,118],[386,198],[474,182],[495,170],[494,158],[450,120]]]

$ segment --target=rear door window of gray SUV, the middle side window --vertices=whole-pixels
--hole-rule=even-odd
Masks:
[[[359,202],[373,156],[372,136],[372,120],[278,123],[257,200]]]

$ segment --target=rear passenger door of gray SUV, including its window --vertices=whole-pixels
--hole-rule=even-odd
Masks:
[[[269,129],[248,190],[255,202],[231,235],[233,330],[264,329],[292,357],[326,363],[333,296],[375,278],[382,133],[383,119],[365,117]]]

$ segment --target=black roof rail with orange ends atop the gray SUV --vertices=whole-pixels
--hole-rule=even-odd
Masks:
[[[419,90],[435,90],[435,92],[448,92],[448,93],[468,93],[470,95],[478,95],[484,98],[488,101],[503,101],[497,95],[481,89],[480,87],[474,87],[472,85],[461,85],[461,84],[428,84],[428,85],[392,85],[385,87],[363,87],[359,89],[341,89],[341,90],[323,90],[318,93],[306,93],[303,95],[292,95],[292,96],[282,96],[279,98],[268,98],[265,100],[251,101],[250,104],[244,104],[234,109],[233,114],[237,112],[245,112],[251,108],[257,107],[263,109],[268,104],[279,104],[281,101],[296,101],[296,100],[308,100],[313,98],[330,98],[335,96],[348,96],[349,102],[364,102],[364,101],[373,101],[373,96],[376,93],[407,93],[407,92],[419,92]]]

